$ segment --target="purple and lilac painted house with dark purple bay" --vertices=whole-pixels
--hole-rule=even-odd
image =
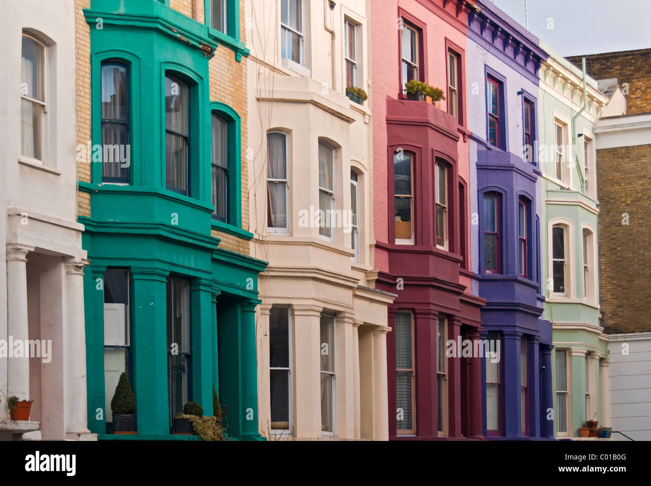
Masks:
[[[467,40],[473,271],[487,303],[482,337],[499,343],[482,366],[483,433],[553,437],[551,323],[542,319],[542,208],[536,113],[538,38],[488,1]]]

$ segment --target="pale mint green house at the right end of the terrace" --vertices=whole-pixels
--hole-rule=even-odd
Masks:
[[[541,43],[542,44],[542,43]],[[609,425],[608,337],[600,327],[599,204],[593,126],[606,98],[597,83],[550,53],[540,67],[538,126],[532,148],[541,160],[545,319],[553,327],[554,435],[579,437],[586,420]]]

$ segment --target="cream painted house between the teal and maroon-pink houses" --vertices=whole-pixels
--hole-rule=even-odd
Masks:
[[[252,252],[270,263],[256,311],[260,433],[387,440],[396,296],[374,289],[370,100],[346,96],[370,91],[370,8],[246,8]]]

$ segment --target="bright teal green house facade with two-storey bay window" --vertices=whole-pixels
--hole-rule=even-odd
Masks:
[[[241,227],[239,116],[210,101],[215,49],[234,51],[232,62],[247,55],[239,12],[229,20],[237,31],[230,37],[166,3],[92,0],[83,10],[92,145],[101,140],[103,148],[89,151],[90,183],[79,182],[90,197],[90,216],[79,217],[91,262],[84,277],[88,426],[100,439],[195,440],[174,435],[173,418],[187,401],[212,416],[214,386],[228,407],[229,437],[257,440],[255,307],[267,263],[222,249],[211,236],[219,228],[253,237]],[[219,203],[215,109],[229,126]],[[222,203],[228,216],[215,218]],[[135,394],[135,435],[111,433],[122,372]]]

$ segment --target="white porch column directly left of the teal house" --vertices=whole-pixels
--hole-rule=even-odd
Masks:
[[[66,435],[90,433],[86,408],[86,330],[83,310],[83,269],[89,263],[79,258],[66,261],[65,291],[68,302],[63,327]]]

